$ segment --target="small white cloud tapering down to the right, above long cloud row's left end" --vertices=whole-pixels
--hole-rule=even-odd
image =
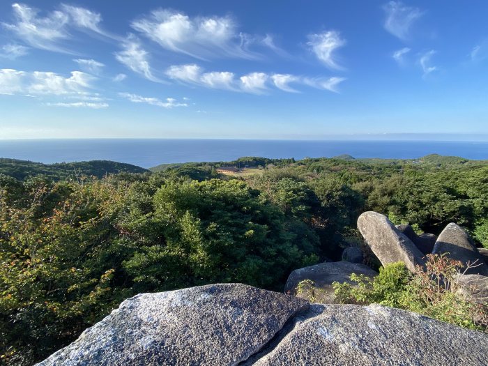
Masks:
[[[130,68],[135,73],[144,75],[152,82],[161,82],[151,71],[148,62],[148,52],[141,47],[139,40],[134,36],[129,36],[122,44],[123,50],[116,52],[115,58],[123,65]]]

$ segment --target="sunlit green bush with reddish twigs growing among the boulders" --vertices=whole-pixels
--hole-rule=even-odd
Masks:
[[[402,262],[380,268],[374,279],[351,275],[351,284],[335,282],[336,301],[358,305],[378,303],[427,317],[488,332],[488,306],[459,293],[455,277],[462,263],[445,255],[428,254],[426,268],[409,273]]]

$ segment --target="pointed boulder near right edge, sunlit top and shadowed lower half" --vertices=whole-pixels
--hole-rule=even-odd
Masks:
[[[468,275],[488,275],[488,266],[478,252],[478,248],[475,247],[468,234],[453,222],[443,229],[432,252],[434,254],[448,253],[448,257],[461,261],[465,267],[468,263],[475,263],[476,267],[466,271]]]

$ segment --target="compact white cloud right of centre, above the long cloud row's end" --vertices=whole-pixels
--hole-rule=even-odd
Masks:
[[[328,68],[343,69],[335,60],[335,51],[346,45],[346,40],[341,38],[338,31],[310,34],[308,40],[307,45],[310,46],[317,59],[325,63]]]

